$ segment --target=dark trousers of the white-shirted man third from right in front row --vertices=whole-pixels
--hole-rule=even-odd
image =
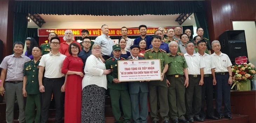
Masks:
[[[185,92],[185,105],[187,118],[199,116],[202,103],[202,86],[199,85],[199,77],[189,75],[189,85]]]

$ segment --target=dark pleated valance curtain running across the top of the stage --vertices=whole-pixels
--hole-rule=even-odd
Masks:
[[[204,1],[15,1],[14,12],[58,15],[167,15],[201,12]]]

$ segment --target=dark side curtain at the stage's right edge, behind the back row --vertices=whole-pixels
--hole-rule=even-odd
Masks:
[[[209,32],[208,32],[208,24],[206,19],[206,14],[204,12],[196,12],[194,13],[195,20],[196,20],[196,27],[203,28],[203,37],[209,39]]]

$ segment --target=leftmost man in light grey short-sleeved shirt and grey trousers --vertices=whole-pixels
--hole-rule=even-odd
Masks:
[[[22,82],[24,76],[24,64],[30,60],[23,55],[24,44],[22,42],[15,42],[13,45],[14,54],[6,56],[0,68],[2,80],[0,85],[0,94],[5,94],[6,101],[6,122],[13,123],[13,109],[15,103],[15,96],[19,105],[19,122],[25,122],[24,112],[24,97],[22,95]]]

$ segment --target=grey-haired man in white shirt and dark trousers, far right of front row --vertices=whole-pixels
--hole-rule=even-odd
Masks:
[[[215,86],[215,100],[216,100],[216,112],[218,118],[222,119],[223,114],[221,110],[222,96],[224,100],[224,116],[225,118],[232,119],[231,117],[231,105],[230,105],[230,85],[233,83],[231,66],[232,63],[228,55],[222,53],[220,42],[215,40],[211,42],[214,53],[211,55],[211,63],[214,64],[214,68],[211,69],[213,74],[213,81]]]

